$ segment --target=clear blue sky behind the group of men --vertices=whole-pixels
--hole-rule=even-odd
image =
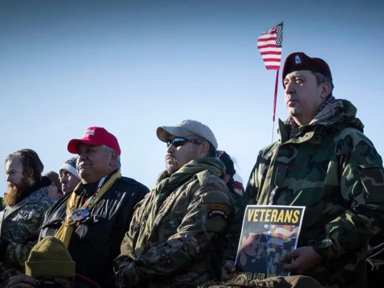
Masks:
[[[122,173],[150,188],[165,167],[156,127],[189,118],[213,130],[246,181],[271,138],[275,71],[256,41],[280,21],[283,58],[325,59],[334,95],[357,106],[384,156],[383,4],[339,2],[1,1],[0,159],[31,148],[57,171],[69,139],[103,126],[119,140]],[[279,79],[276,117],[286,116]]]

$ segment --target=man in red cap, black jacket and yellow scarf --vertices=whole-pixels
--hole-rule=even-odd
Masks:
[[[76,274],[110,288],[113,259],[129,228],[133,207],[148,188],[121,175],[120,146],[103,127],[87,128],[67,148],[78,155],[75,166],[81,182],[46,212],[39,239],[60,239],[76,262]]]

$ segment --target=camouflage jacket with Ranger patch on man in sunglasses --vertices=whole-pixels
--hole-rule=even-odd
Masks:
[[[219,159],[214,161],[225,171]],[[234,199],[218,173],[205,167],[159,190],[177,173],[162,179],[137,204],[115,260],[117,287],[188,288],[219,276],[214,267],[220,267]]]

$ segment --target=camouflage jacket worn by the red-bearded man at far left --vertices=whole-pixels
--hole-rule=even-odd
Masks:
[[[42,187],[0,212],[0,236],[9,242],[5,254],[0,255],[0,287],[4,287],[10,276],[24,272],[24,263],[37,242],[43,215],[54,202]]]

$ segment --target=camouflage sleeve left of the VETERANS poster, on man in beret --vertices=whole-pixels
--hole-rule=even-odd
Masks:
[[[240,240],[240,233],[242,227],[242,220],[244,217],[244,211],[246,205],[254,204],[252,203],[257,197],[258,193],[258,165],[259,157],[257,158],[256,164],[253,166],[252,171],[248,179],[248,183],[245,188],[245,192],[236,200],[234,203],[234,214],[233,218],[230,221],[230,226],[225,233],[225,250],[223,253],[223,261],[235,260],[238,241]]]

